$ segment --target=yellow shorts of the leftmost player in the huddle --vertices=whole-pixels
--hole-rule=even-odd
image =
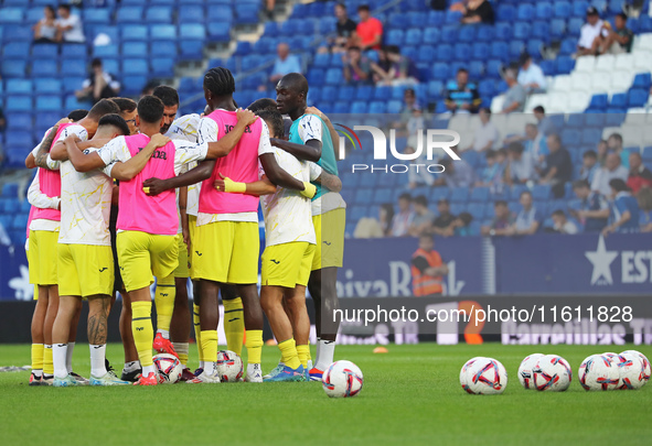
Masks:
[[[30,283],[34,285],[56,285],[56,247],[58,231],[30,231]]]

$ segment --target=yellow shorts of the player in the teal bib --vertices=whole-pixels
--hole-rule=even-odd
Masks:
[[[329,210],[312,217],[317,249],[312,258],[312,271],[322,268],[342,268],[344,260],[344,226],[346,225],[346,209]]]

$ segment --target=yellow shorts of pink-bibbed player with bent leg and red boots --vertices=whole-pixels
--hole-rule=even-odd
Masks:
[[[152,274],[167,278],[177,269],[177,236],[157,236],[140,231],[118,232],[118,261],[127,292],[153,283]]]

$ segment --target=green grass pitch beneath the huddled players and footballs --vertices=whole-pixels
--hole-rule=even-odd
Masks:
[[[329,399],[321,385],[223,383],[157,388],[30,388],[28,372],[0,373],[0,437],[3,445],[524,445],[649,444],[652,383],[640,391],[585,392],[581,360],[603,351],[650,346],[340,346],[336,359],[364,373],[353,399]],[[193,351],[194,350],[194,351]],[[516,370],[533,352],[557,353],[574,371],[563,393],[525,391]],[[121,346],[108,358],[121,366]],[[506,368],[502,395],[469,395],[459,385],[461,366],[489,356]],[[264,371],[278,350],[265,347]],[[0,346],[0,366],[30,362],[30,347]],[[196,349],[191,345],[191,366]],[[74,367],[88,374],[88,349],[77,345]]]

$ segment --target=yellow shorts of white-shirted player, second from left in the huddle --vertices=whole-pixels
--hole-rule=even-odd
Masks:
[[[58,295],[88,297],[114,293],[111,247],[58,243]]]

